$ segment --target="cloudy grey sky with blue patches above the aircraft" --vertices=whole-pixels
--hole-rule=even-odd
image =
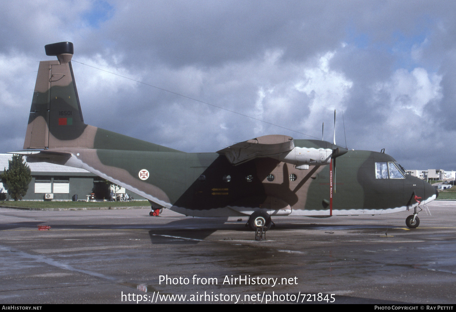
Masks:
[[[44,45],[70,41],[90,125],[206,152],[321,139],[323,122],[332,141],[336,109],[336,143],[456,170],[455,16],[447,0],[1,1],[0,152],[22,149]]]

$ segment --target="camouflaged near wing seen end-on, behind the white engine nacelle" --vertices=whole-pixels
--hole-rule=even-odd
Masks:
[[[225,155],[233,165],[239,165],[256,157],[268,157],[293,150],[293,138],[287,135],[264,135],[233,144],[217,151]]]

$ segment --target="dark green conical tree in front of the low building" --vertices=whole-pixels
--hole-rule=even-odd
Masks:
[[[31,170],[21,155],[13,155],[8,161],[8,170],[1,174],[3,185],[14,200],[22,199],[28,190],[31,181]]]

